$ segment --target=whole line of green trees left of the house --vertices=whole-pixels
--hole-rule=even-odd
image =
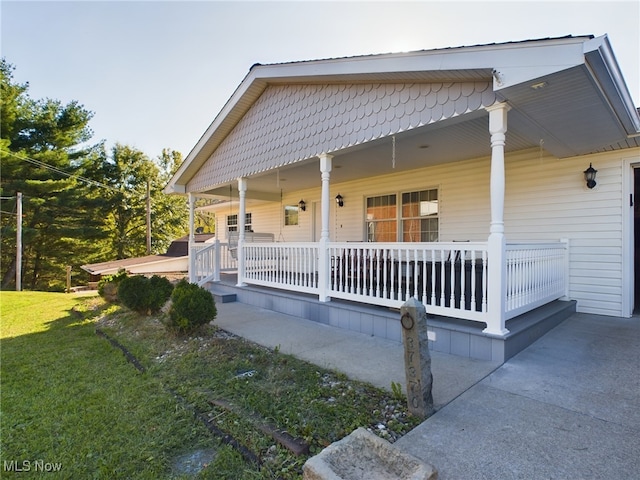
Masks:
[[[165,252],[187,233],[186,200],[162,192],[182,163],[180,152],[164,149],[151,159],[128,145],[92,143],[93,112],[77,101],[32,99],[29,84],[14,81],[14,70],[0,60],[3,289],[15,288],[17,192],[23,194],[27,289],[63,288],[67,265],[75,272],[84,264],[145,255],[148,191],[151,253]]]

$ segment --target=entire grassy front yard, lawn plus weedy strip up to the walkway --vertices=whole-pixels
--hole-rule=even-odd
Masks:
[[[173,478],[178,455],[214,447],[215,460],[198,478],[295,479],[308,456],[276,444],[255,418],[303,438],[311,455],[359,426],[383,424],[393,439],[418,423],[397,395],[215,327],[174,336],[161,315],[141,317],[65,294],[2,292],[0,301],[0,461],[61,463],[51,478]],[[146,373],[98,337],[96,327],[135,355]],[[255,374],[240,375],[247,371]],[[261,464],[218,443],[170,390]],[[216,400],[233,409],[213,405]]]

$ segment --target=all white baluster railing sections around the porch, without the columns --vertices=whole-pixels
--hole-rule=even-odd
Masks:
[[[282,290],[399,308],[418,298],[429,313],[487,323],[490,259],[486,242],[329,242],[328,278],[319,278],[317,243],[244,243],[245,271],[238,280]],[[194,278],[200,285],[237,270],[228,244],[192,248]],[[216,258],[219,269],[216,268]],[[506,319],[566,296],[566,242],[508,244]],[[216,277],[217,275],[217,277]],[[194,281],[194,280],[192,280]]]

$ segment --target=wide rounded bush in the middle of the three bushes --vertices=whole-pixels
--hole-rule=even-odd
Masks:
[[[173,285],[164,277],[154,275],[151,278],[135,275],[126,277],[118,286],[118,299],[125,307],[142,315],[151,315],[160,311],[167,303]]]

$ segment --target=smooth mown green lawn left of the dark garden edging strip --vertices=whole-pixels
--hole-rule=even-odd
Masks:
[[[95,334],[86,311],[72,313],[77,297],[2,292],[0,302],[0,477],[35,478],[49,464],[60,471],[47,478],[167,478],[176,455],[212,446],[158,381]]]

